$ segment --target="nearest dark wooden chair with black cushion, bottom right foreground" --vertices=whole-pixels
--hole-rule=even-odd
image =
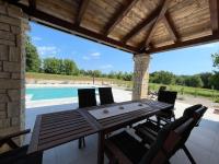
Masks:
[[[181,117],[162,128],[153,144],[146,148],[132,136],[123,131],[105,141],[105,153],[111,164],[164,164],[184,144],[194,118]],[[181,143],[181,144],[180,144]]]

